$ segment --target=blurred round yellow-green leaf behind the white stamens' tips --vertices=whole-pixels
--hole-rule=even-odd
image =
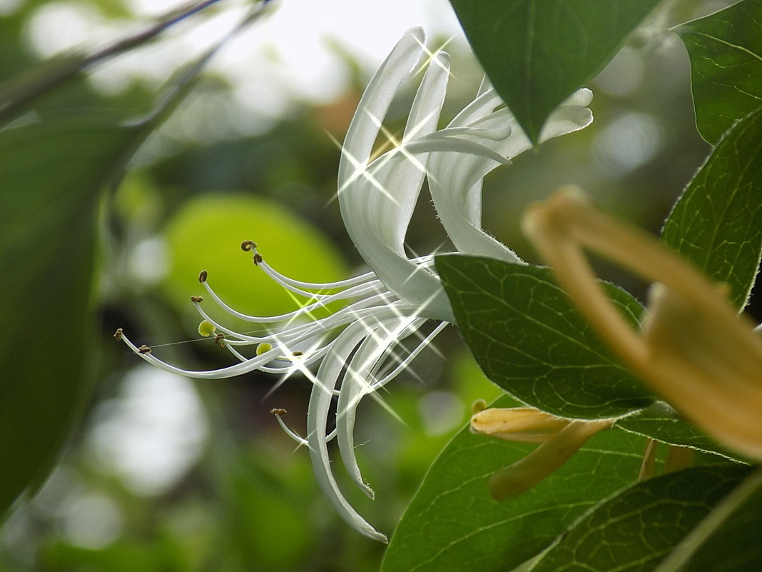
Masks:
[[[306,300],[252,264],[251,252],[240,248],[247,239],[254,239],[267,263],[284,275],[314,282],[347,277],[341,257],[318,228],[253,194],[203,194],[186,201],[169,221],[166,237],[169,298],[191,310],[189,297],[203,292],[197,281],[202,269],[223,300],[244,313],[289,312]],[[210,302],[207,310],[214,309]],[[251,329],[251,323],[246,326]]]

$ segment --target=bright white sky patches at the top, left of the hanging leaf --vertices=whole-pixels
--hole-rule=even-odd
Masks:
[[[3,2],[4,0],[0,0]],[[128,0],[137,21],[164,14],[179,0]],[[120,92],[139,78],[152,87],[166,82],[181,63],[223,37],[251,2],[222,0],[200,18],[174,27],[158,47],[114,59],[94,72],[104,92]],[[350,70],[341,52],[368,77],[409,27],[429,37],[455,36],[465,45],[447,0],[274,0],[271,13],[217,54],[210,69],[232,85],[236,124],[267,129],[297,101],[325,103],[347,88]],[[51,2],[30,18],[27,40],[40,56],[67,47],[98,45],[136,29],[134,22],[107,21],[97,9],[73,0]]]

